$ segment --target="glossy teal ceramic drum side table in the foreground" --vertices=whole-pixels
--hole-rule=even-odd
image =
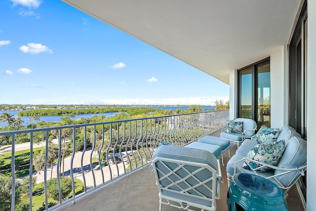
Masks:
[[[251,174],[236,174],[228,188],[229,211],[288,211],[283,192],[272,181]]]

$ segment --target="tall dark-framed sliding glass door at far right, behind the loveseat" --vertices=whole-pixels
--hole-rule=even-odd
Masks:
[[[307,1],[304,2],[289,49],[289,125],[307,140]],[[298,190],[306,207],[306,175]]]

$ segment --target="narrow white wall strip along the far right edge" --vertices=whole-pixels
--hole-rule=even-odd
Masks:
[[[307,210],[316,209],[316,1],[308,0],[307,52]]]

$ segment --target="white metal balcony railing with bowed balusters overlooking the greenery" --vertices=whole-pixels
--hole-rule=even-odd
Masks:
[[[29,184],[32,184],[34,175],[38,177],[37,182],[44,182],[45,210],[53,210],[66,203],[75,203],[78,197],[150,163],[158,144],[170,143],[183,146],[218,131],[223,127],[224,119],[228,119],[228,115],[229,110],[220,110],[1,132],[0,140],[12,140],[11,199],[15,198],[17,184],[20,182],[16,176],[16,169],[19,166],[15,164],[15,142],[22,134],[30,141],[29,171],[34,172],[34,167],[38,170],[42,169],[27,176]],[[42,152],[36,150],[37,153],[34,153],[35,143],[40,141],[44,145],[41,148]],[[64,147],[65,145],[71,148]],[[67,153],[67,149],[71,152]],[[70,157],[67,157],[69,154]],[[35,158],[40,158],[40,155],[42,155],[41,166],[38,161],[34,163]],[[49,208],[47,181],[52,177],[57,177],[59,202]],[[61,181],[64,177],[71,179],[70,197],[63,195]],[[81,193],[76,192],[75,178],[83,182],[82,190],[79,191]],[[33,193],[33,187],[30,185],[30,211],[32,211]],[[15,200],[11,200],[12,211],[14,207]]]

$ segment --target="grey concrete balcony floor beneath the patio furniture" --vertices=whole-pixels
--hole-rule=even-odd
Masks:
[[[220,132],[213,134],[219,137]],[[231,155],[235,154],[237,145],[232,145]],[[228,152],[224,156],[224,163],[229,160]],[[226,166],[221,165],[224,184],[220,184],[220,199],[217,200],[217,211],[227,211],[227,176]],[[288,192],[286,199],[289,211],[304,211],[296,185]],[[63,211],[158,211],[159,197],[156,178],[149,171],[149,165],[144,169],[129,174],[114,181],[107,187],[100,188],[93,194],[86,195]],[[181,211],[168,205],[162,206],[163,211]],[[198,210],[198,209],[197,209]]]

